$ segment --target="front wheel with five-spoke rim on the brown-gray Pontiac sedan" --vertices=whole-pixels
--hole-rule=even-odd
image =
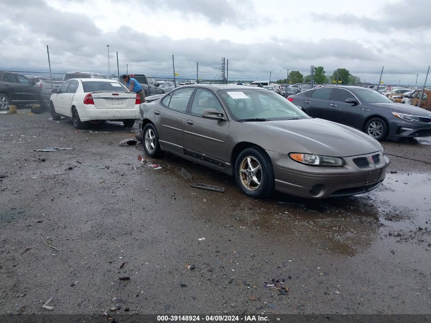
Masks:
[[[260,147],[243,150],[235,162],[235,181],[240,190],[253,198],[274,192],[274,170],[268,154]]]

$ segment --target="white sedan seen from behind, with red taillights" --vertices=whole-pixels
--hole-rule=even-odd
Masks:
[[[125,127],[133,127],[140,104],[138,94],[106,79],[70,79],[50,97],[53,120],[70,117],[77,129],[98,120],[122,121]]]

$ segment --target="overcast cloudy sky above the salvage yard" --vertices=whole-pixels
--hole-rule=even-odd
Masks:
[[[2,0],[0,68],[120,74],[175,72],[229,79],[285,78],[347,68],[361,81],[424,82],[431,64],[429,0]]]

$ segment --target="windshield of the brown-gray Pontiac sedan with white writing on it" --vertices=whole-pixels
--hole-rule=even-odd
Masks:
[[[283,96],[262,89],[219,90],[235,120],[288,120],[310,118]]]

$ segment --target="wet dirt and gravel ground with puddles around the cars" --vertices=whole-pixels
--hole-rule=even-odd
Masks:
[[[384,142],[370,193],[258,201],[118,146],[119,122],[20,113],[0,115],[0,314],[431,313],[431,138]]]

